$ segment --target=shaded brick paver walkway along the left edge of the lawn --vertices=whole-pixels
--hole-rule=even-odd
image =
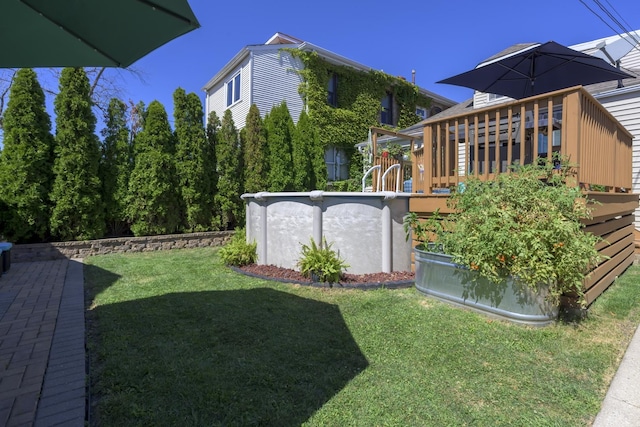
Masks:
[[[0,425],[83,426],[82,263],[14,263],[0,277]]]

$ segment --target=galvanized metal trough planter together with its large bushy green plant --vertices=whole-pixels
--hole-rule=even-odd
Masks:
[[[582,284],[600,261],[596,236],[581,220],[590,209],[571,166],[542,161],[470,177],[448,200],[454,211],[423,222],[405,218],[416,247],[416,287],[424,293],[531,324],[555,318],[562,295],[582,302]],[[427,244],[431,242],[431,248]],[[437,244],[439,252],[433,252]]]

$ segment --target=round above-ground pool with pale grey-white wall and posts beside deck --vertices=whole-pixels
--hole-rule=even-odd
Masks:
[[[261,192],[242,199],[258,264],[297,270],[302,244],[325,237],[349,264],[348,273],[411,270],[411,241],[403,228],[408,193]]]

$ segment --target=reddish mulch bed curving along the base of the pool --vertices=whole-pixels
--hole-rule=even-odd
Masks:
[[[275,265],[250,264],[238,267],[240,272],[265,279],[273,279],[281,282],[309,283],[311,280],[304,277],[299,271]],[[411,286],[415,280],[415,274],[410,271],[394,271],[392,273],[370,274],[343,274],[340,285],[359,287],[365,285],[402,284]]]

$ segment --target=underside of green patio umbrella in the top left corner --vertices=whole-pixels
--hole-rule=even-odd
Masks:
[[[199,26],[187,0],[2,0],[0,68],[127,67]]]

